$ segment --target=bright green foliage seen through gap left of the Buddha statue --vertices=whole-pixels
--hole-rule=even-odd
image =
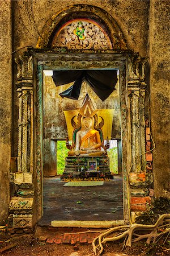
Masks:
[[[65,158],[68,151],[65,141],[57,141],[57,175],[63,174],[65,170]]]

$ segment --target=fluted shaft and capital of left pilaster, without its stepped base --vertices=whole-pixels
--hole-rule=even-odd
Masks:
[[[18,172],[33,171],[33,85],[32,56],[15,59],[18,74]]]

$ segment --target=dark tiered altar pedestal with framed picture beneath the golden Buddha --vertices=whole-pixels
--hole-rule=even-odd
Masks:
[[[107,156],[67,156],[65,171],[61,179],[74,178],[88,179],[90,177],[113,179],[109,171]]]

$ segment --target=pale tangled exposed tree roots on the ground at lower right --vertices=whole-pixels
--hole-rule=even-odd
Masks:
[[[132,242],[137,242],[142,239],[146,239],[146,243],[156,243],[160,236],[170,232],[170,214],[162,214],[155,225],[143,225],[133,224],[116,226],[114,228],[106,230],[106,232],[100,234],[92,242],[95,255],[101,255],[103,253],[103,245],[107,242],[117,241],[121,238],[127,238],[124,241],[124,246],[131,246]]]

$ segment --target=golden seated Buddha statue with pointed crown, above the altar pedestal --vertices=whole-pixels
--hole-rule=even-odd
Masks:
[[[83,106],[79,110],[77,122],[74,122],[75,116],[71,119],[71,125],[74,127],[73,144],[70,146],[68,139],[66,146],[70,149],[69,156],[103,156],[107,155],[106,149],[109,147],[103,144],[103,132],[101,127],[104,125],[104,119],[98,124],[98,117],[91,99],[86,94]]]

